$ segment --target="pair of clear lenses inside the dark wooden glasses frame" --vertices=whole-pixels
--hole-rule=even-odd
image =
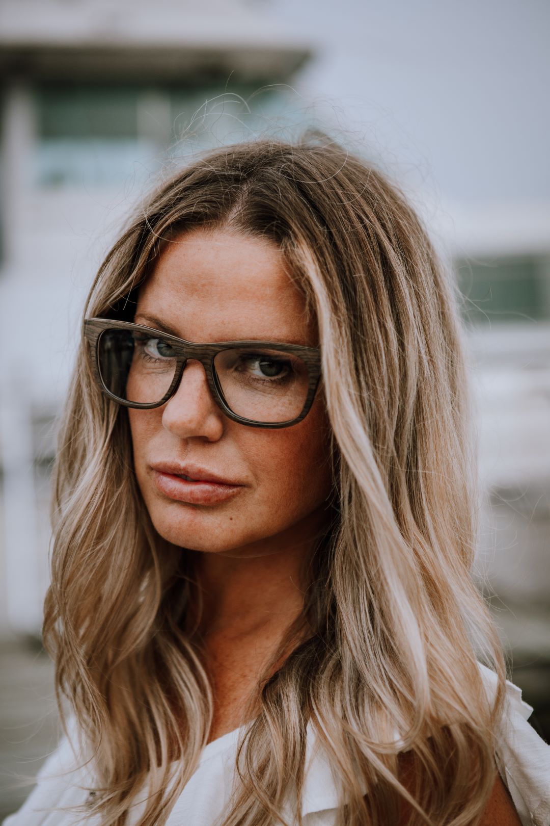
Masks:
[[[104,330],[98,361],[107,389],[137,404],[161,401],[177,363],[168,341],[137,330]],[[276,424],[303,411],[308,366],[294,354],[254,346],[227,349],[216,354],[214,370],[229,409],[245,419]]]

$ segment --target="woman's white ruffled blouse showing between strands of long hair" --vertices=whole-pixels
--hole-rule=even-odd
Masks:
[[[496,686],[496,675],[481,666],[488,693]],[[550,746],[527,722],[533,709],[521,699],[521,690],[506,682],[508,711],[499,733],[496,758],[502,780],[510,791],[523,826],[550,826]],[[227,811],[235,777],[237,742],[244,728],[235,729],[204,747],[199,765],[186,784],[167,820],[167,826],[215,826]],[[41,767],[37,784],[16,814],[3,826],[77,826],[78,816],[62,807],[82,804],[86,778],[77,765],[73,748],[63,738]],[[338,786],[328,757],[323,752],[311,724],[308,724],[303,787],[304,826],[333,826],[336,823]],[[131,810],[129,824],[143,811],[138,802]],[[295,823],[292,801],[284,812]],[[98,819],[87,821],[100,826]]]

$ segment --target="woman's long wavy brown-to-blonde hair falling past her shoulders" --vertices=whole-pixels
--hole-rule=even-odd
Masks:
[[[407,800],[411,826],[476,824],[496,779],[505,663],[471,576],[477,452],[454,280],[375,164],[322,135],[264,138],[164,181],[106,256],[84,316],[131,319],[163,244],[196,227],[282,250],[317,317],[334,468],[303,606],[311,631],[289,632],[297,641],[258,676],[223,826],[287,822],[308,724],[341,784],[339,823],[396,823]],[[83,337],[52,521],[44,637],[61,713],[68,698],[94,767],[87,812],[125,824],[144,787],[140,826],[164,824],[213,717],[200,594],[192,553],[153,528],[127,411],[97,389]],[[497,674],[494,703],[480,661]]]

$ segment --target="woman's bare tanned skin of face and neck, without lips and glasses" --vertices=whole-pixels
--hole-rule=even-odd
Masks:
[[[134,320],[151,314],[195,342],[279,339],[317,346],[303,296],[275,244],[193,230],[162,252],[139,291]],[[242,724],[247,700],[289,624],[303,609],[304,554],[327,523],[330,425],[321,388],[308,415],[280,430],[223,415],[199,362],[186,364],[172,399],[129,409],[134,468],[158,534],[195,553],[203,596],[204,664],[214,693],[209,740]],[[173,501],[151,463],[197,463],[244,488],[216,506]]]

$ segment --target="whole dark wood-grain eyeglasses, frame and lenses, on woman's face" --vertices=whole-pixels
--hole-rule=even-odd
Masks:
[[[150,410],[172,398],[188,359],[199,361],[214,401],[233,421],[289,427],[313,403],[321,377],[316,347],[272,341],[195,344],[130,321],[84,320],[101,392],[125,407]]]

